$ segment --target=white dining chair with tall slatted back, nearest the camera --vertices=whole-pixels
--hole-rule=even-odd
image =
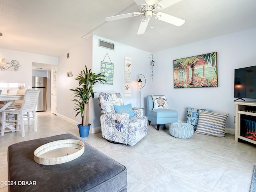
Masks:
[[[26,90],[24,100],[20,108],[6,109],[1,111],[1,133],[0,136],[4,136],[4,132],[21,131],[22,137],[25,136],[24,126],[34,126],[34,131],[37,131],[36,127],[36,105],[38,102],[40,90]],[[6,118],[6,114],[14,114],[14,119]],[[24,120],[24,117],[27,120]],[[33,121],[33,125],[24,125],[25,122]],[[16,129],[8,129],[8,127],[15,126]],[[19,130],[20,127],[20,130]]]

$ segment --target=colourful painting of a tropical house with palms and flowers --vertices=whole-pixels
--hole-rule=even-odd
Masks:
[[[218,87],[217,52],[173,60],[174,88]]]

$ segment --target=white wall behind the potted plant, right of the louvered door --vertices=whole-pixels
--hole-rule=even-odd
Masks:
[[[69,52],[69,58],[67,53]],[[85,70],[85,65],[88,69],[92,68],[92,37],[84,39],[80,44],[74,45],[66,53],[59,58],[58,72],[57,72],[57,113],[58,116],[73,124],[81,123],[81,115],[75,117],[76,112],[73,108],[75,106],[74,96],[70,89],[78,87],[76,76],[80,74],[81,70]],[[67,77],[67,72],[72,72],[72,77]]]

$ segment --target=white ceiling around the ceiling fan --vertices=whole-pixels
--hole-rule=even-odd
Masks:
[[[0,48],[59,57],[89,33],[156,52],[256,27],[256,0],[182,0],[162,12],[185,24],[152,18],[142,35],[143,16],[104,20],[138,10],[133,0],[0,0]]]

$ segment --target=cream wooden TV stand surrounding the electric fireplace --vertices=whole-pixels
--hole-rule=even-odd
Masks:
[[[256,121],[256,102],[250,101],[235,101],[236,106],[236,130],[235,130],[235,140],[238,142],[238,139],[256,144],[256,141],[246,138],[241,135],[241,115],[244,116],[254,116]]]

